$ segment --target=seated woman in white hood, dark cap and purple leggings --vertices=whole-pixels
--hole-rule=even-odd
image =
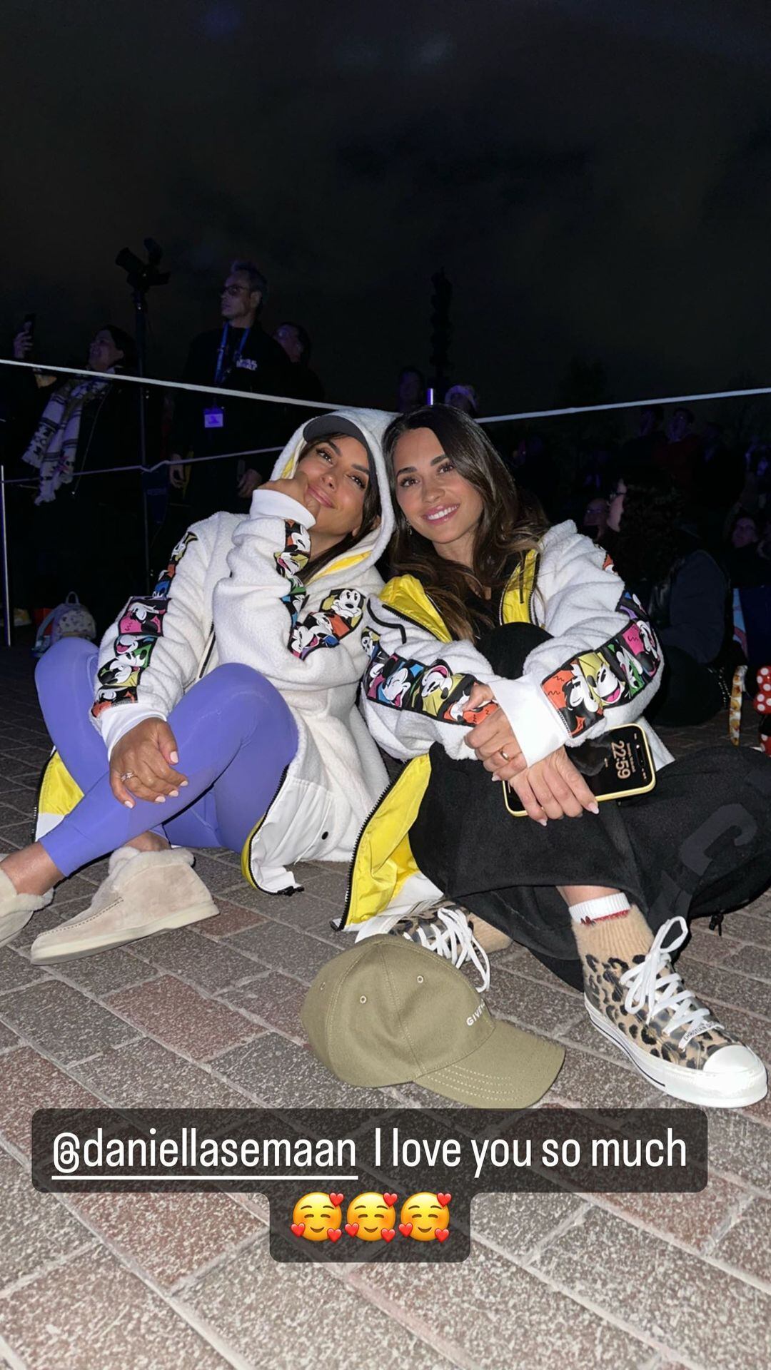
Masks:
[[[386,784],[355,708],[392,526],[384,426],[369,410],[306,422],[250,516],[193,523],[99,653],[70,640],[41,660],[55,752],[38,840],[0,862],[0,941],[108,852],[89,908],[37,938],[36,963],[215,914],[188,845],[241,852],[270,893],[298,888],[294,862],[350,858]]]

